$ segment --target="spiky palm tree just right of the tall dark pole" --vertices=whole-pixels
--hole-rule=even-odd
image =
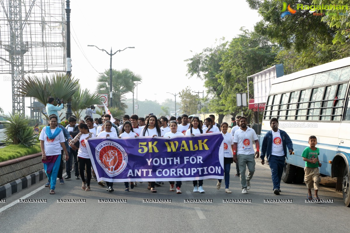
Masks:
[[[72,96],[72,112],[73,115],[80,118],[80,113],[82,110],[90,107],[92,104],[99,104],[100,98],[97,94],[91,94],[88,89],[82,90],[78,84],[77,91]]]

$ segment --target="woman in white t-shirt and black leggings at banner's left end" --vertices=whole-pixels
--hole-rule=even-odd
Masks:
[[[73,140],[70,141],[69,145],[76,150],[75,143],[79,141],[79,150],[78,150],[78,163],[79,163],[79,174],[82,178],[83,184],[82,189],[85,191],[90,191],[90,181],[91,181],[91,160],[89,157],[89,153],[87,152],[87,148],[85,145],[84,139],[95,138],[92,132],[89,132],[89,126],[85,123],[80,123],[79,126],[80,133],[75,136]],[[84,175],[86,165],[86,180]]]

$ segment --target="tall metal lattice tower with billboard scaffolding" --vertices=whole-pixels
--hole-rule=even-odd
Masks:
[[[0,74],[11,74],[13,112],[25,113],[23,79],[65,72],[63,0],[0,0]]]

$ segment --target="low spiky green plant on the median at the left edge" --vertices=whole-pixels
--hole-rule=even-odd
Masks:
[[[34,146],[36,144],[36,135],[33,128],[29,126],[29,119],[23,117],[18,112],[10,114],[9,122],[3,122],[5,130],[5,139],[3,143],[10,145],[22,144],[24,146]]]

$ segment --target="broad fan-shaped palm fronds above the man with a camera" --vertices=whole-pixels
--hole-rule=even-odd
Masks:
[[[65,102],[77,91],[78,81],[66,74],[56,73],[45,79],[29,77],[24,79],[21,85],[21,93],[26,97],[34,97],[46,106],[49,96],[59,97]]]

